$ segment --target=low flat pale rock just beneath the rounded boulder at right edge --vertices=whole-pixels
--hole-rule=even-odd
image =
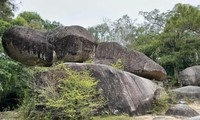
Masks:
[[[200,99],[200,87],[198,86],[185,86],[172,90],[178,100],[184,98]]]

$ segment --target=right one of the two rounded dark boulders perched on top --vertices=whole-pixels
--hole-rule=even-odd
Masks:
[[[61,26],[46,35],[54,47],[54,57],[64,62],[85,61],[95,51],[95,38],[80,26]]]

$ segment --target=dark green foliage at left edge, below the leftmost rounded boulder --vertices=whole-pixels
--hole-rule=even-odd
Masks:
[[[0,104],[5,104],[4,101],[9,94],[15,94],[18,97],[18,104],[21,104],[23,99],[28,97],[26,95],[31,87],[32,77],[29,70],[7,56],[1,56],[0,63]]]

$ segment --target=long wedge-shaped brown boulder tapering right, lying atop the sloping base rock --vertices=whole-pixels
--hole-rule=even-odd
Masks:
[[[115,42],[98,44],[95,53],[95,63],[113,64],[121,59],[124,70],[136,75],[156,80],[164,80],[166,71],[159,64],[138,51],[128,51]]]

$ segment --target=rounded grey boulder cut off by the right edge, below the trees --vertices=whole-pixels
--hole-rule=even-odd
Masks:
[[[200,85],[200,66],[188,67],[180,72],[180,81],[182,85]]]

